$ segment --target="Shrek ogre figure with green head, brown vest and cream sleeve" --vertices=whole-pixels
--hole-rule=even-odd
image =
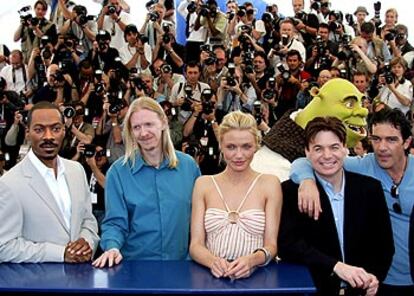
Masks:
[[[315,117],[339,118],[346,126],[348,148],[367,136],[364,94],[351,82],[331,79],[311,94],[313,99],[304,109],[286,112],[263,138],[251,163],[254,170],[276,175],[281,182],[289,179],[291,162],[305,156],[305,127]]]

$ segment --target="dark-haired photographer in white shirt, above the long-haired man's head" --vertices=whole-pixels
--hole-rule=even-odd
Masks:
[[[146,70],[152,61],[151,46],[132,24],[125,27],[124,38],[126,43],[119,50],[122,63],[128,69]]]

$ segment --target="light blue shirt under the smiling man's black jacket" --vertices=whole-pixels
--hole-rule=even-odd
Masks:
[[[323,179],[318,173],[315,172],[316,178],[321,183],[326,195],[329,198],[331,204],[332,213],[335,219],[336,232],[338,233],[339,245],[341,247],[342,259],[345,262],[344,253],[344,194],[345,194],[345,174],[342,174],[341,190],[335,192],[334,186]]]

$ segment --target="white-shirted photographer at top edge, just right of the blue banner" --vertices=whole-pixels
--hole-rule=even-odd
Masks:
[[[221,44],[225,44],[227,18],[218,10],[216,0],[207,0],[205,5],[198,7],[194,30],[198,31],[201,27],[207,29],[207,40],[209,38],[219,39]]]

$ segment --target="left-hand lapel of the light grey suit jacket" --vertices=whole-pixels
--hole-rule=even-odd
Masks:
[[[23,174],[25,178],[30,179],[29,186],[44,201],[51,212],[57,217],[59,223],[62,224],[66,232],[69,233],[69,229],[67,228],[65,220],[63,219],[63,213],[60,210],[53,194],[50,192],[46,181],[43,179],[43,177],[40,175],[28,157],[26,157],[23,162]]]

